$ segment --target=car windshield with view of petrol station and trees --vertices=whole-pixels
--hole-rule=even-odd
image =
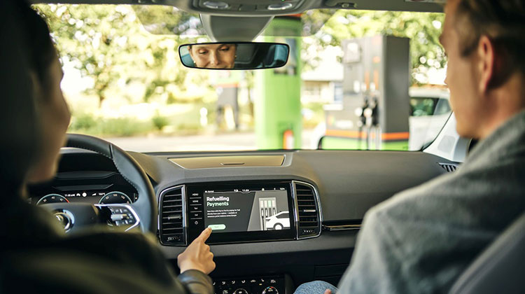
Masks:
[[[286,66],[211,71],[179,58],[179,45],[210,41],[195,15],[169,6],[35,7],[61,57],[69,132],[125,150],[416,151],[451,112],[439,13],[274,18],[255,41],[288,44]]]

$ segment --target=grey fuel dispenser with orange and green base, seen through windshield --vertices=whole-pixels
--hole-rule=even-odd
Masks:
[[[342,107],[325,109],[321,148],[407,150],[409,38],[356,38],[342,47]]]

